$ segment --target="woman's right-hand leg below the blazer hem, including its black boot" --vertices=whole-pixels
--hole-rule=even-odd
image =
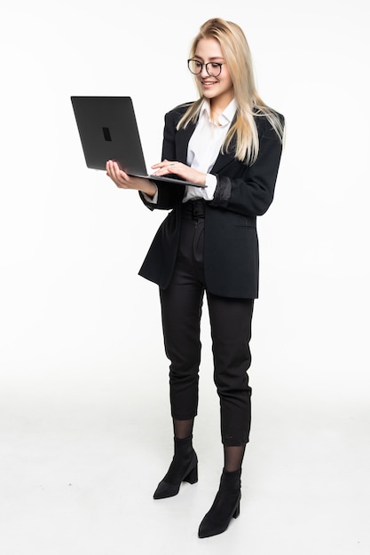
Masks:
[[[215,383],[220,398],[224,471],[199,537],[221,534],[240,513],[241,464],[250,429],[248,368],[253,300],[208,295]]]

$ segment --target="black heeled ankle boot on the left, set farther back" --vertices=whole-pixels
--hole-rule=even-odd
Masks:
[[[154,491],[154,499],[176,496],[182,481],[194,484],[198,481],[198,458],[193,449],[193,436],[184,440],[175,437],[175,455],[169,466],[169,472]]]

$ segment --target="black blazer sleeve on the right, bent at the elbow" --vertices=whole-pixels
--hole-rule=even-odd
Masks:
[[[279,114],[284,125],[284,117]],[[271,123],[257,117],[259,152],[256,161],[232,164],[217,176],[214,199],[209,202],[241,215],[263,215],[272,203],[278,176],[282,145]]]

